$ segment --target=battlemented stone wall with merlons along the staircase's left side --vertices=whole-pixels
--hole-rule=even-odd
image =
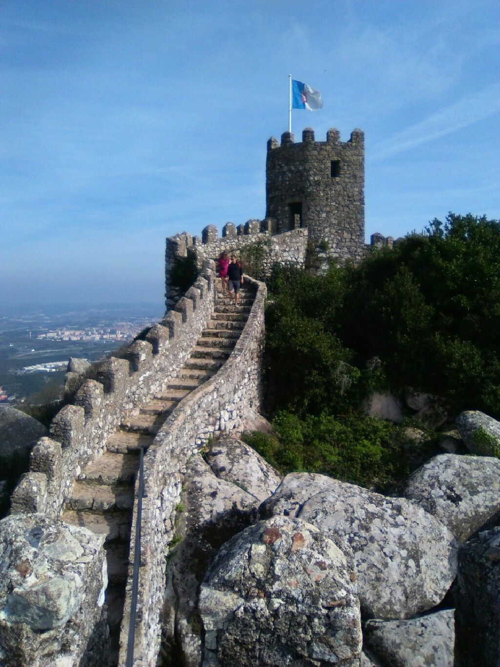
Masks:
[[[11,511],[57,517],[81,470],[99,458],[107,439],[125,413],[138,411],[163,390],[181,366],[213,311],[215,263],[203,261],[202,272],[185,297],[160,323],[99,366],[97,380],[86,380],[73,404],[53,418],[50,438],[31,452],[29,472],[11,498]]]

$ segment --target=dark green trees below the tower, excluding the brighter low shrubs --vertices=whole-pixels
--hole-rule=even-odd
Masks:
[[[269,288],[273,410],[339,414],[371,388],[411,386],[500,416],[497,221],[450,214],[358,266],[276,267]]]

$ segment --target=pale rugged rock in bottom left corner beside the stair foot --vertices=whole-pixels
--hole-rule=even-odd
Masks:
[[[1,664],[99,664],[92,654],[107,642],[102,543],[86,528],[36,514],[0,522]]]

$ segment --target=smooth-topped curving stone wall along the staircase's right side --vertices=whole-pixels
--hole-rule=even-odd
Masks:
[[[165,564],[168,545],[174,536],[175,508],[180,500],[187,460],[215,432],[241,428],[247,408],[258,408],[261,401],[266,287],[248,276],[245,276],[245,281],[254,287],[255,300],[231,356],[215,376],[178,404],[145,455],[144,528],[141,533],[143,566],[140,569],[135,628],[135,667],[156,664],[161,638]],[[136,517],[137,486],[131,544],[135,540]],[[119,664],[125,660],[131,584],[129,577]]]

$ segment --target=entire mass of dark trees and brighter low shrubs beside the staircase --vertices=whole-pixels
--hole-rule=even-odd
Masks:
[[[394,486],[418,460],[405,429],[361,415],[373,390],[440,396],[449,414],[500,418],[500,224],[435,219],[360,265],[313,276],[275,267],[266,313],[276,437],[248,442],[281,472]],[[433,438],[421,455],[433,451]]]

